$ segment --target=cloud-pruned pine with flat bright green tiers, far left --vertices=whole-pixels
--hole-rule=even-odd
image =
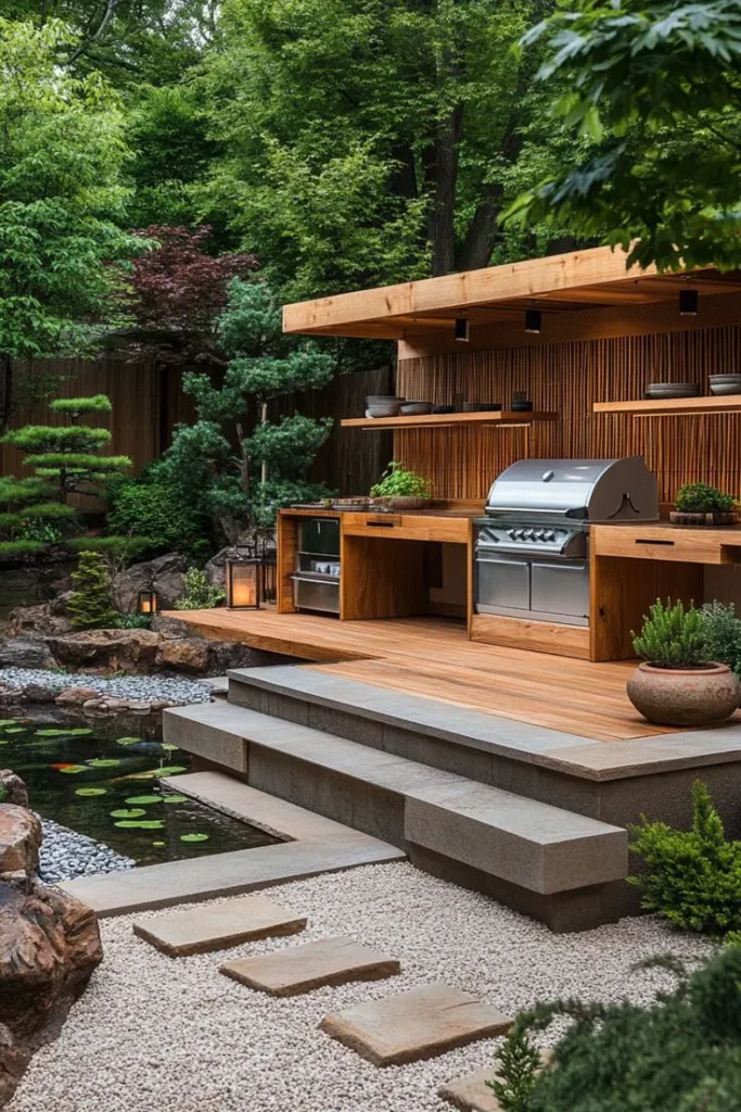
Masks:
[[[103,485],[131,467],[128,456],[106,456],[110,444],[107,428],[82,424],[84,414],[110,413],[111,404],[103,394],[83,398],[57,398],[50,409],[66,419],[62,425],[24,425],[2,437],[26,456],[23,464],[32,467],[33,478],[2,480],[0,529],[7,534],[11,552],[36,552],[50,542],[73,532],[77,512],[69,505],[71,494],[101,494]],[[44,529],[41,528],[43,526]],[[119,538],[107,538],[119,542]],[[18,547],[24,544],[24,548]],[[72,539],[72,547],[90,544],[87,538]],[[29,548],[28,546],[31,545]],[[1,549],[0,549],[1,552]]]

